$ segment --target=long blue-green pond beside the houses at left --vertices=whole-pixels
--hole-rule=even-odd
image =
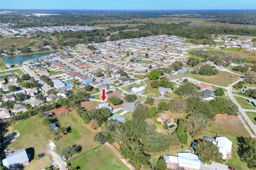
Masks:
[[[15,55],[15,56],[10,56],[10,57],[2,57],[2,59],[5,63],[15,64],[15,63],[20,63],[20,62],[23,62],[26,60],[32,60],[32,59],[42,57],[45,55],[49,55],[52,53],[56,53],[56,52],[58,52],[58,51],[43,52],[43,53],[37,53],[37,54]]]

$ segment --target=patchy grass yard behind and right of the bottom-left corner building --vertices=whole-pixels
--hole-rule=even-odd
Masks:
[[[37,154],[46,153],[47,143],[51,139],[41,120],[31,117],[26,121],[15,123],[9,127],[9,132],[12,131],[19,132],[20,136],[11,143],[9,146],[10,150],[27,148],[34,148],[35,150],[35,155],[31,155],[34,156],[34,159],[25,169],[42,169],[45,166],[51,165],[52,160],[47,154],[42,159],[37,159]]]

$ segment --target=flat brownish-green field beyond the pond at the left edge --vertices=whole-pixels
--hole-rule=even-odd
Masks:
[[[24,46],[31,42],[37,42],[38,39],[30,39],[30,38],[1,38],[0,44],[1,47],[9,47],[10,45],[14,46]]]

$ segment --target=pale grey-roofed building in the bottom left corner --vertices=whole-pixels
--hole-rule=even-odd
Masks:
[[[17,165],[26,166],[29,164],[28,154],[25,149],[21,149],[6,155],[6,158],[2,160],[3,166],[13,168]]]

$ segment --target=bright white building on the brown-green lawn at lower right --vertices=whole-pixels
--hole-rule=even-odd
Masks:
[[[226,137],[216,137],[214,144],[218,146],[222,159],[227,159],[227,154],[231,153],[232,142]]]

